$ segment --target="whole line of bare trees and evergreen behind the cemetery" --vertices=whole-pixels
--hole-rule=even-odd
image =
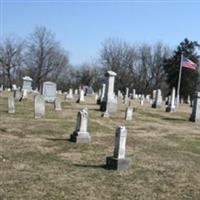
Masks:
[[[197,41],[184,39],[176,49],[162,42],[130,44],[108,39],[102,43],[95,62],[80,66],[70,64],[69,52],[46,27],[36,27],[24,40],[7,37],[0,41],[0,84],[21,85],[25,75],[33,79],[33,87],[41,88],[44,81],[57,83],[58,89],[78,88],[80,85],[101,88],[107,70],[117,73],[115,90],[136,89],[149,94],[160,88],[167,95],[177,87],[180,55],[199,63]],[[195,91],[198,70],[183,69],[181,95],[186,98]]]

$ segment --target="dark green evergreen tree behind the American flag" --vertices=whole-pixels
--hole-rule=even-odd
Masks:
[[[198,64],[199,56],[195,52],[196,47],[198,47],[196,41],[189,41],[185,38],[174,51],[172,57],[164,61],[164,69],[167,74],[167,83],[169,84],[170,90],[172,87],[177,88],[179,69],[181,62],[181,54],[184,57],[189,58],[191,61]],[[198,70],[191,70],[185,67],[182,68],[182,78],[180,86],[180,97],[187,99],[188,95],[193,96],[198,79]]]

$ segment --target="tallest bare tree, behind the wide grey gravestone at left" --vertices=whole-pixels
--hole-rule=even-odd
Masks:
[[[56,79],[69,62],[68,54],[45,27],[36,27],[31,34],[25,60],[37,88],[50,77]]]

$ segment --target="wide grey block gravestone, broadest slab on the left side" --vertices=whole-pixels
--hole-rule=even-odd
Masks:
[[[50,81],[44,82],[42,87],[42,95],[46,102],[53,103],[56,99],[56,84]]]

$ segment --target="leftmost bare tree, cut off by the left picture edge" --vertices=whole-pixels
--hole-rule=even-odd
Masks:
[[[22,51],[23,42],[17,41],[12,37],[6,38],[0,43],[1,84],[12,87],[16,71],[22,66]]]

